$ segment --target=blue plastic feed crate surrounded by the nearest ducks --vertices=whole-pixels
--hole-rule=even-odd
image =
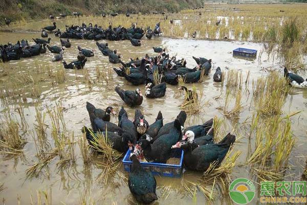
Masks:
[[[153,175],[168,176],[168,177],[181,177],[182,176],[182,162],[183,150],[174,149],[172,152],[173,157],[180,158],[179,165],[170,165],[167,163],[153,163],[141,162],[141,166],[150,171]],[[124,170],[131,172],[132,161],[130,160],[130,150],[127,151],[123,158]]]

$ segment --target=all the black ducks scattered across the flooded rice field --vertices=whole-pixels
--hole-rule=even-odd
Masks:
[[[219,24],[219,23],[218,23]],[[218,25],[217,24],[217,25]],[[8,24],[9,25],[9,24]],[[47,31],[56,30],[56,23],[53,26],[42,28],[42,37],[48,37]],[[92,24],[86,26],[67,26],[64,32],[59,29],[55,32],[60,37],[61,47],[49,46],[51,38],[47,40],[33,38],[35,45],[29,45],[27,40],[21,40],[15,45],[0,45],[0,57],[3,61],[17,60],[20,57],[30,57],[46,52],[48,49],[54,56],[54,61],[62,60],[62,52],[70,48],[69,38],[82,39],[108,39],[122,40],[129,39],[133,46],[140,46],[140,39],[146,33],[150,39],[152,35],[160,35],[160,23],[156,24],[154,30],[150,27],[145,32],[142,28],[133,24],[126,29],[121,26],[113,28],[112,24],[107,29]],[[147,34],[149,35],[147,36]],[[63,40],[62,38],[67,38]],[[136,39],[137,41],[134,41]],[[153,47],[153,51],[158,53],[156,56],[146,54],[142,58],[130,59],[129,62],[123,62],[121,55],[117,50],[110,50],[108,43],[96,42],[98,49],[103,55],[108,56],[109,62],[121,64],[121,67],[114,68],[118,76],[129,81],[134,86],[145,86],[145,96],[148,98],[163,97],[166,92],[166,84],[177,85],[181,77],[185,83],[198,83],[203,75],[209,75],[212,60],[204,57],[194,57],[196,62],[194,68],[186,67],[184,58],[177,59],[176,56],[170,57],[166,50],[159,47]],[[47,47],[47,49],[46,49]],[[79,55],[77,60],[67,64],[62,61],[66,69],[82,69],[85,66],[87,57],[93,57],[94,52],[89,49],[77,47]],[[154,75],[159,77],[159,83]],[[289,80],[290,85],[296,88],[307,88],[307,79],[291,73],[284,68],[284,77]],[[213,75],[213,81],[221,82],[222,71],[217,67]],[[195,93],[185,86],[180,90],[185,91],[186,100],[194,100]],[[119,97],[129,106],[140,106],[143,101],[142,92],[139,88],[135,91],[123,90],[119,86],[115,87]],[[83,127],[82,132],[90,145],[93,145],[95,136],[101,133],[107,136],[112,142],[113,148],[119,152],[125,153],[128,149],[131,151],[130,159],[133,161],[132,170],[128,179],[128,186],[131,193],[139,202],[150,203],[157,200],[156,179],[150,172],[145,171],[140,165],[140,160],[145,158],[149,162],[166,163],[172,157],[173,149],[184,150],[184,166],[189,170],[205,171],[213,161],[221,163],[228,152],[230,146],[235,142],[235,136],[230,133],[225,138],[214,143],[213,139],[213,119],[206,121],[203,125],[184,127],[186,113],[181,111],[175,120],[164,124],[162,112],[159,112],[157,118],[152,124],[149,124],[143,113],[135,109],[134,120],[128,118],[128,114],[122,107],[118,113],[118,125],[110,122],[111,115],[116,114],[113,107],[107,107],[105,110],[97,109],[93,104],[87,102],[86,109],[90,116],[91,127]]]

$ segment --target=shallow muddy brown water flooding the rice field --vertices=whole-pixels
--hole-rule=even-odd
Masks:
[[[18,39],[28,39],[32,42],[32,38],[40,37],[40,33],[0,33],[0,44],[7,42],[16,42]],[[51,45],[60,45],[59,39],[52,36]],[[195,61],[192,56],[204,56],[212,58],[213,67],[208,77],[203,79],[203,83],[195,84],[198,91],[203,91],[203,102],[208,101],[208,106],[199,115],[189,115],[185,126],[191,126],[195,124],[201,124],[202,122],[218,116],[224,118],[223,114],[217,110],[217,107],[224,106],[225,99],[215,99],[220,94],[221,84],[213,82],[213,73],[217,66],[220,66],[223,71],[228,72],[230,69],[242,70],[244,76],[247,71],[250,71],[250,80],[247,84],[247,90],[252,90],[252,79],[256,80],[262,75],[267,75],[268,72],[264,68],[274,68],[281,71],[281,68],[275,62],[268,59],[265,53],[262,53],[261,58],[255,60],[245,60],[239,58],[233,58],[231,51],[237,47],[252,48],[259,51],[262,49],[261,44],[246,43],[246,42],[218,42],[218,41],[206,41],[206,40],[191,40],[191,39],[169,39],[169,38],[153,38],[151,40],[143,39],[141,47],[133,47],[127,40],[120,42],[108,42],[111,49],[117,49],[123,55],[124,61],[127,61],[130,57],[141,57],[146,53],[154,55],[152,46],[163,46],[167,48],[167,51],[171,55],[177,55],[179,58],[186,58],[187,67],[194,67]],[[86,49],[94,49],[95,56],[88,58],[85,68],[89,70],[92,81],[96,78],[96,67],[99,66],[101,70],[107,70],[114,66],[108,62],[108,58],[103,56],[97,49],[94,40],[75,40],[72,39],[72,48],[65,50],[63,54],[64,60],[70,62],[76,59],[78,50],[77,46],[81,46]],[[52,54],[47,51],[45,54],[32,58],[23,58],[18,61],[10,61],[8,64],[17,66],[25,66],[25,70],[35,75],[35,64],[48,62],[52,68],[60,67],[60,63],[51,62]],[[66,80],[65,83],[59,86],[52,86],[51,81],[48,79],[48,75],[42,75],[43,80],[37,84],[41,92],[40,97],[32,98],[27,92],[27,102],[24,103],[10,103],[8,106],[2,101],[0,107],[0,116],[3,117],[4,113],[10,111],[13,116],[18,119],[17,113],[14,111],[14,107],[18,104],[25,108],[25,116],[28,122],[28,132],[25,133],[25,137],[29,141],[24,147],[24,157],[20,156],[8,156],[3,154],[0,162],[0,181],[4,183],[6,189],[0,192],[0,197],[4,198],[5,204],[16,204],[17,195],[20,196],[21,204],[30,203],[30,194],[34,195],[36,200],[36,190],[52,190],[52,204],[78,204],[80,203],[80,195],[87,193],[88,201],[96,201],[96,204],[111,204],[117,202],[117,204],[135,204],[135,200],[129,192],[127,186],[127,180],[122,180],[120,177],[115,176],[110,178],[107,183],[98,182],[97,177],[102,171],[97,166],[97,161],[93,162],[89,166],[84,166],[81,153],[78,146],[76,146],[76,165],[70,167],[65,171],[58,171],[56,168],[56,162],[58,158],[55,158],[49,165],[48,171],[43,172],[37,178],[27,179],[25,170],[33,165],[37,159],[35,157],[35,145],[32,138],[33,124],[35,123],[35,106],[40,106],[42,111],[46,111],[47,106],[55,106],[55,103],[61,102],[61,106],[67,108],[64,112],[64,119],[67,129],[74,131],[75,139],[77,140],[81,136],[80,129],[83,125],[90,126],[89,116],[85,109],[86,101],[91,102],[97,108],[105,108],[112,105],[117,110],[123,105],[122,100],[114,91],[115,85],[120,85],[126,90],[135,90],[137,87],[131,86],[126,80],[118,77],[113,72],[113,81],[109,81],[106,85],[101,83],[93,83],[92,87],[86,85],[83,79],[84,70],[65,70]],[[8,76],[3,76],[0,83],[2,85],[11,84],[12,79],[10,75],[13,75],[14,70],[10,71]],[[282,72],[281,72],[282,74]],[[76,75],[79,78],[76,78]],[[245,79],[245,78],[244,78]],[[9,81],[7,83],[7,80]],[[192,85],[188,85],[191,87]],[[143,93],[144,87],[140,87]],[[292,99],[292,105],[290,107],[290,99]],[[289,174],[292,174],[287,179],[299,179],[303,170],[305,156],[307,148],[306,143],[306,106],[307,106],[307,91],[300,89],[293,89],[287,97],[286,104],[284,105],[284,113],[302,111],[300,114],[292,118],[293,133],[296,136],[296,145],[291,154],[290,163],[293,165]],[[184,96],[178,92],[176,86],[167,85],[167,91],[163,98],[159,99],[146,99],[144,98],[143,104],[139,109],[144,113],[149,124],[151,124],[161,110],[164,117],[164,122],[173,120],[180,112],[180,104],[183,102]],[[232,103],[230,107],[232,107]],[[223,130],[225,132],[231,132],[235,130],[235,134],[240,137],[234,146],[234,151],[240,150],[242,154],[237,159],[239,164],[246,162],[246,156],[248,152],[249,143],[251,147],[254,147],[254,139],[249,141],[246,136],[246,125],[244,122],[251,121],[251,116],[254,108],[250,103],[251,96],[248,92],[243,92],[242,103],[246,105],[244,111],[240,114],[238,120],[229,120],[225,118],[223,124]],[[129,118],[133,118],[134,109],[125,106],[128,112]],[[117,116],[111,119],[112,122],[117,123]],[[46,124],[50,125],[50,119],[46,117]],[[48,128],[50,132],[50,127]],[[53,145],[51,136],[48,135],[48,139]],[[125,176],[127,173],[120,170]],[[168,177],[156,177],[157,179],[157,195],[159,200],[153,204],[204,204],[207,203],[207,199],[200,192],[196,192],[196,198],[192,200],[182,189],[182,182],[197,181],[201,176],[200,173],[194,173],[187,171],[183,178],[175,179]],[[231,174],[231,178],[247,177],[253,180],[255,176],[250,173],[250,170],[246,166],[237,166],[234,168],[234,172]],[[167,194],[164,194],[164,188],[168,189]],[[257,189],[256,189],[257,190]],[[216,198],[212,202],[213,204],[230,204],[231,202],[226,200],[226,195],[219,194],[216,191]],[[80,194],[82,193],[82,194]],[[257,199],[253,200],[256,203]]]

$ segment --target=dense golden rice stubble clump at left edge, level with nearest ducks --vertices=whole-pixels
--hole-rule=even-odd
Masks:
[[[12,119],[7,119],[1,125],[0,139],[0,146],[8,154],[21,153],[26,144],[26,140],[19,135],[18,122]]]

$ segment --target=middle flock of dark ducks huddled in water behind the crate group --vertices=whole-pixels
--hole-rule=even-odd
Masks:
[[[142,59],[130,59],[128,63],[119,60],[122,67],[113,68],[118,76],[124,77],[132,85],[145,85],[145,96],[147,98],[163,97],[166,92],[166,84],[177,85],[179,78],[182,78],[185,83],[198,83],[202,76],[209,75],[211,70],[211,59],[193,56],[197,65],[194,68],[187,68],[185,59],[177,60],[174,56],[170,57],[163,48],[153,47],[153,50],[160,53],[151,57],[146,54]],[[159,77],[158,83],[154,75],[156,78]],[[216,69],[213,81],[222,81],[220,67]],[[185,86],[181,86],[179,90],[185,91],[187,101],[194,100],[194,97],[197,96],[194,91],[187,89]],[[115,91],[128,106],[140,106],[143,102],[143,95],[139,88],[135,91],[125,91],[117,86]]]

